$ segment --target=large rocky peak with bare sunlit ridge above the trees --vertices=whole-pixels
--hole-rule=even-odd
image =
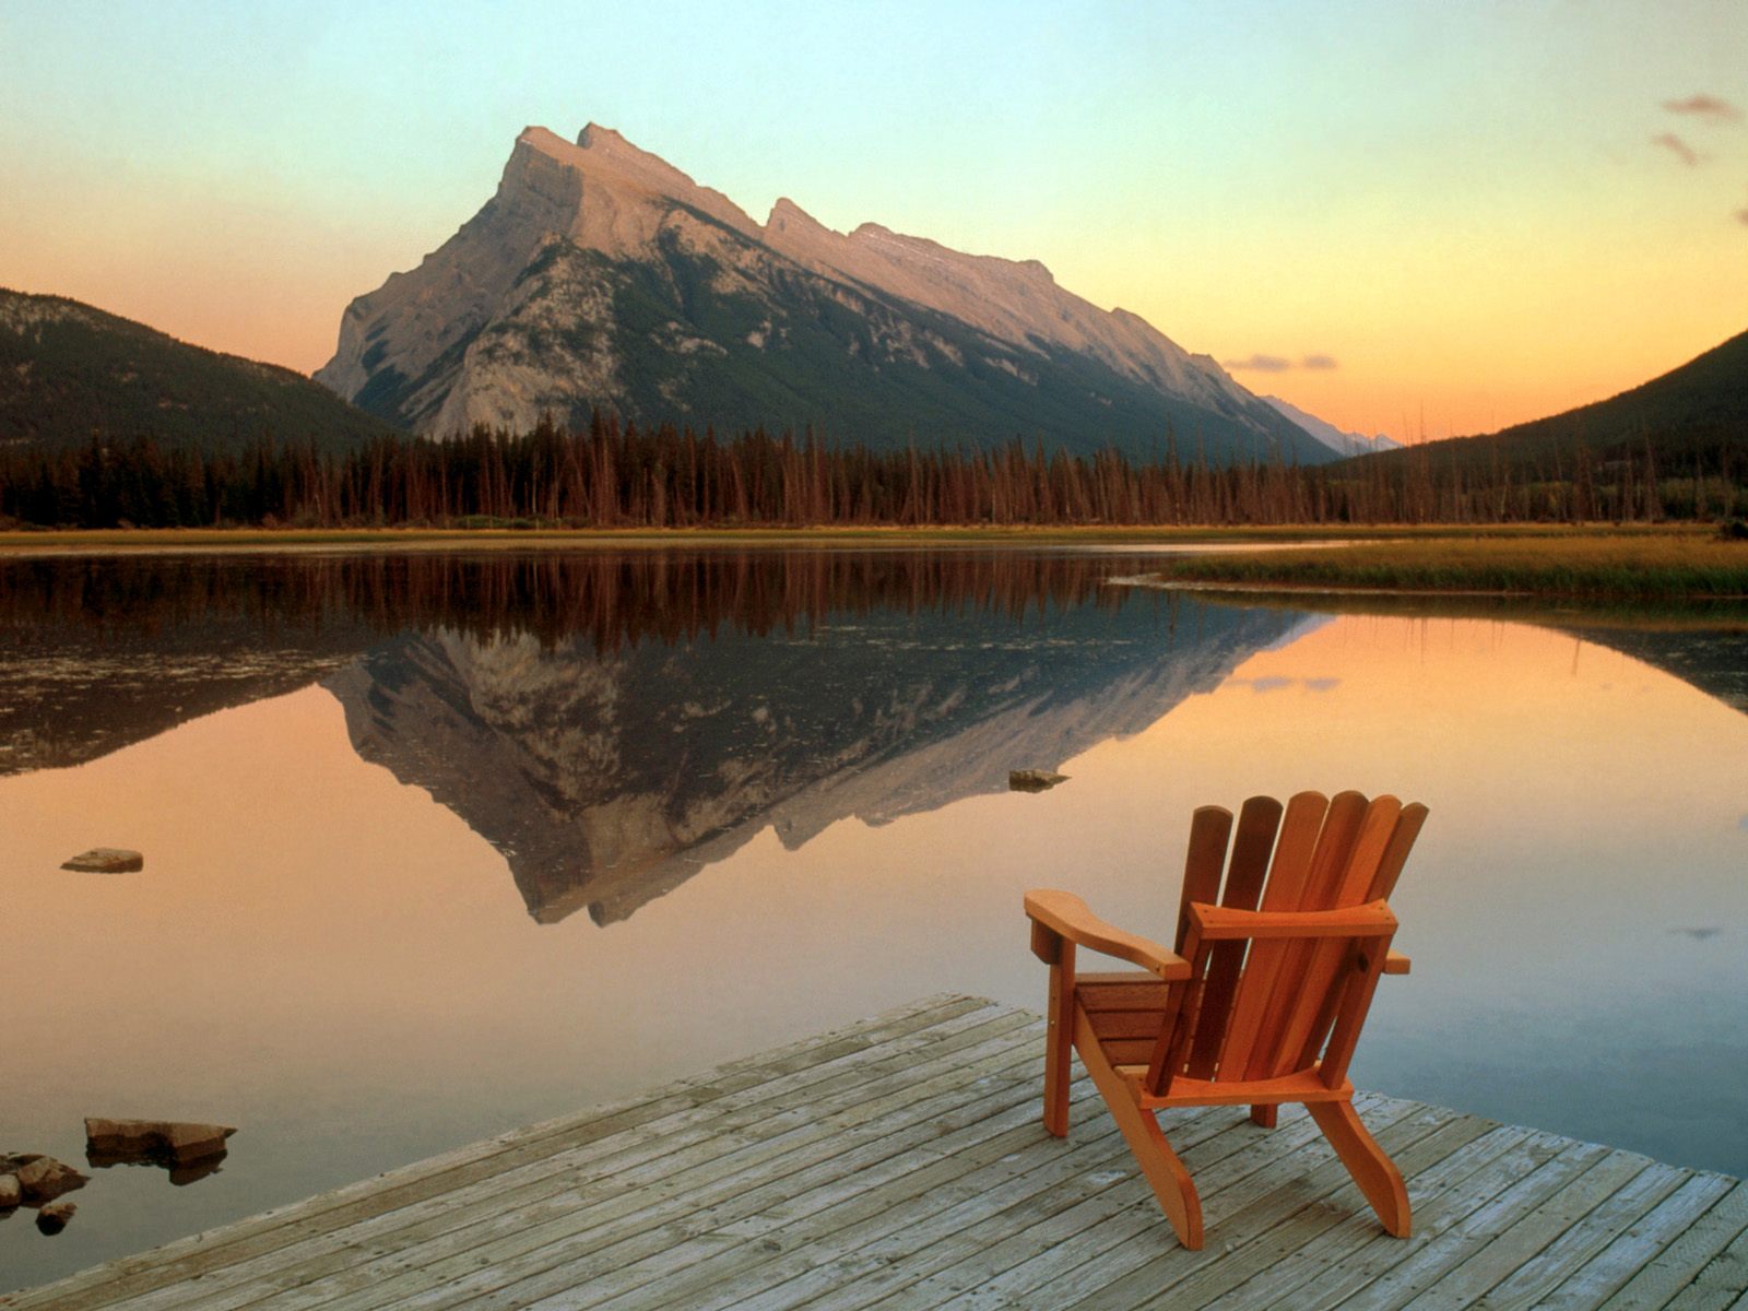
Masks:
[[[781,199],[764,224],[619,133],[516,140],[496,194],[346,309],[316,379],[430,435],[594,406],[650,423],[815,425],[827,440],[1314,463],[1321,442],[1206,355],[1063,290]]]

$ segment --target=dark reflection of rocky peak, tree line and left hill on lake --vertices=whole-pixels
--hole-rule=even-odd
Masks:
[[[0,619],[58,643],[58,673],[14,666],[0,762],[77,764],[322,678],[358,753],[496,846],[535,919],[612,923],[766,825],[795,848],[1138,732],[1302,622],[1106,587],[1113,563],[33,561]]]

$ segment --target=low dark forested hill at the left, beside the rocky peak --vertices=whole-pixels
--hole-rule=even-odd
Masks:
[[[189,346],[59,295],[0,288],[0,446],[93,439],[351,449],[393,432],[299,372]]]

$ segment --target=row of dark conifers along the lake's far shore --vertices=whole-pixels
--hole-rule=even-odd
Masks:
[[[718,437],[640,428],[475,427],[385,437],[348,453],[259,442],[239,453],[149,437],[77,451],[0,447],[0,521],[73,528],[215,524],[731,528],[808,524],[1339,524],[1729,517],[1731,470],[1659,470],[1641,451],[1575,446],[1545,467],[1454,467],[1419,454],[1337,465],[1211,467],[1166,435],[1159,458],[1115,449],[829,446],[811,430]]]

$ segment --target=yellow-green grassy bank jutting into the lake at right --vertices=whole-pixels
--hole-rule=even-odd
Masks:
[[[1269,591],[1550,596],[1582,601],[1748,598],[1748,542],[1715,530],[1416,535],[1346,547],[1190,556],[1157,580]]]

